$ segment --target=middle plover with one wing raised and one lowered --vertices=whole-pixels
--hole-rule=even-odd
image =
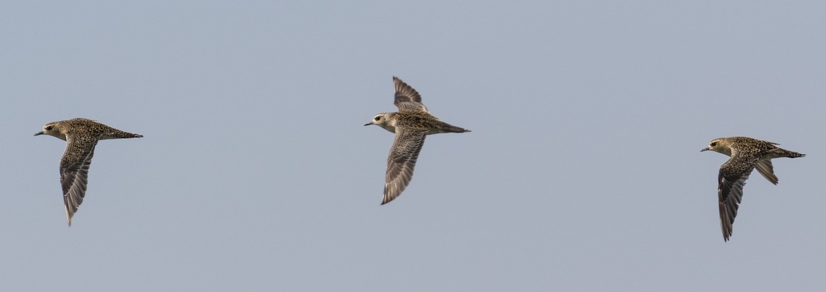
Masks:
[[[405,191],[413,178],[413,167],[419,158],[425,136],[439,133],[470,132],[445,123],[430,115],[427,107],[421,103],[421,96],[413,87],[401,79],[393,77],[396,87],[396,100],[393,104],[398,112],[385,112],[373,116],[365,125],[378,125],[384,130],[396,133],[396,139],[387,156],[387,173],[384,178],[384,199],[382,205],[389,203]]]

